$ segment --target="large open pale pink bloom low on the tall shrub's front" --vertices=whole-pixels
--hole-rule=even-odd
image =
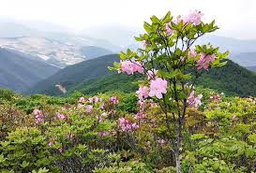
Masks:
[[[150,92],[149,96],[157,96],[159,99],[162,98],[162,94],[167,93],[167,81],[165,79],[152,79],[150,81]]]

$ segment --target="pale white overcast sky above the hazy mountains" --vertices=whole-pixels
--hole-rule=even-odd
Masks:
[[[256,0],[0,0],[0,17],[51,22],[76,31],[105,25],[141,28],[151,15],[203,12],[219,36],[256,39]]]

